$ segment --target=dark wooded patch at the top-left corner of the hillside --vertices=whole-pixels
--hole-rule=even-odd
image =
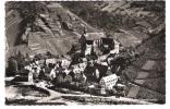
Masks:
[[[45,13],[48,10],[46,3],[39,1],[9,1],[5,5],[7,10],[19,11],[21,16],[31,24],[40,13]]]

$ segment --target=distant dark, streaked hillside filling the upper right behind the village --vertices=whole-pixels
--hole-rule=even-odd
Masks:
[[[165,1],[84,1],[62,4],[94,27],[117,37],[124,46],[141,44],[150,34],[165,28]],[[136,43],[122,36],[134,37]],[[127,45],[130,43],[132,45]]]

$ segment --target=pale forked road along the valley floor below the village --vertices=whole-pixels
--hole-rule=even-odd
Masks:
[[[54,92],[52,89],[46,88],[46,87],[40,87],[44,88],[46,90],[48,90],[50,93],[50,96],[47,98],[44,98],[41,100],[38,100],[37,102],[65,102],[65,105],[80,105],[81,102],[77,101],[73,101],[73,100],[66,100],[64,99],[65,97],[71,98],[83,98],[83,99],[87,99],[87,98],[92,98],[92,99],[104,99],[105,101],[116,101],[116,102],[132,102],[132,104],[143,104],[143,105],[151,105],[153,102],[148,102],[148,101],[144,101],[144,100],[139,100],[139,99],[132,99],[132,98],[125,98],[125,97],[119,97],[117,98],[116,96],[109,96],[109,97],[104,97],[104,96],[92,96],[89,94],[80,94],[80,95],[75,95],[75,94],[62,94],[59,92]],[[89,101],[87,104],[93,104],[93,101]]]

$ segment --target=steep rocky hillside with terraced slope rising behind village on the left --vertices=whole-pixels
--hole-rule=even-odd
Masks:
[[[11,2],[7,2],[7,5],[8,3]],[[15,7],[7,7],[5,33],[8,45],[10,45],[9,56],[19,51],[22,51],[23,55],[46,51],[53,55],[64,55],[71,49],[72,44],[77,41],[84,28],[87,32],[97,32],[78,16],[62,8],[60,3],[42,3],[46,4],[45,12],[34,14],[33,21],[25,19],[27,14],[23,16],[20,3],[17,4],[20,10]],[[27,2],[25,2],[26,4]],[[16,21],[14,21],[13,14],[16,15]]]

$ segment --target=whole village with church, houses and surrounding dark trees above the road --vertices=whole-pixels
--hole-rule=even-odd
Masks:
[[[68,87],[95,95],[126,96],[127,80],[122,71],[139,53],[133,48],[124,51],[118,40],[104,34],[94,38],[93,33],[84,29],[68,55],[52,57],[47,52],[41,56],[48,55],[50,57],[35,56],[25,66],[12,70],[15,72],[14,81],[40,83],[44,87]]]

